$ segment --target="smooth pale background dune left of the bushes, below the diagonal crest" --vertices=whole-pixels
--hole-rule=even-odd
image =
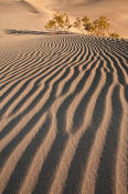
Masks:
[[[0,31],[44,30],[51,11],[45,8],[41,10],[25,1],[0,1]]]

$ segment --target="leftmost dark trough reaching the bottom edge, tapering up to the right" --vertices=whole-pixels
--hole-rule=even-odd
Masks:
[[[41,143],[43,142],[44,137],[46,136],[46,133],[49,132],[49,129],[51,126],[51,116],[49,116],[45,121],[45,123],[40,127],[39,132],[32,140],[32,142],[28,145],[26,150],[22,154],[21,159],[19,160],[10,180],[9,183],[6,186],[6,190],[3,191],[3,194],[15,193],[23,181],[23,177],[25,176],[28,172],[28,167],[30,163],[32,162],[35,152],[40,147]]]

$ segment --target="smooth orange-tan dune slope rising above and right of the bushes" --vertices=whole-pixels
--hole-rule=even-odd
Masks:
[[[111,30],[128,38],[128,1],[127,0],[26,0],[36,7],[49,10],[66,11],[73,18],[87,14],[96,19],[104,14],[110,19]]]

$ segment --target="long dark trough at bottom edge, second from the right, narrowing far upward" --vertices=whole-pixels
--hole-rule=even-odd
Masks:
[[[63,194],[78,194],[81,190],[81,184],[83,180],[83,170],[86,166],[86,162],[88,159],[89,151],[92,149],[92,144],[95,137],[95,134],[98,130],[98,126],[103,120],[104,112],[105,112],[105,99],[109,86],[113,83],[111,74],[108,73],[106,78],[106,83],[103,90],[99,93],[99,96],[96,101],[96,106],[93,113],[93,120],[87,129],[87,131],[82,136],[78,146],[76,149],[75,156],[72,161],[71,169],[68,171],[68,176],[65,182],[65,188]]]

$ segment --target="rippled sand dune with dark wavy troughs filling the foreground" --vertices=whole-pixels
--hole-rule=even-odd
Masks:
[[[128,41],[0,45],[0,194],[127,194]]]

